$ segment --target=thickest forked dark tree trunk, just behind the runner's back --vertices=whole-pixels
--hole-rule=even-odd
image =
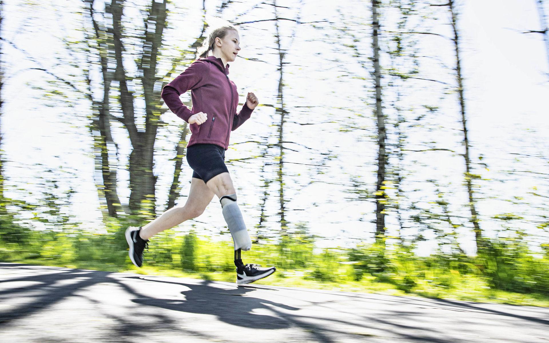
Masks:
[[[155,213],[155,185],[156,176],[153,174],[154,143],[160,124],[160,109],[163,104],[160,93],[160,82],[166,76],[156,76],[158,54],[162,43],[164,29],[167,21],[167,0],[152,1],[143,11],[146,18],[143,19],[144,30],[138,40],[142,43],[141,55],[133,57],[136,61],[137,79],[141,81],[141,92],[133,91],[133,82],[137,81],[129,76],[122,63],[124,52],[131,50],[124,47],[124,26],[122,25],[122,13],[124,1],[113,0],[105,12],[112,14],[113,20],[113,45],[116,61],[114,81],[118,82],[119,104],[122,117],[116,117],[126,128],[130,137],[132,151],[130,153],[130,200],[129,207],[133,214],[142,215],[142,219],[154,217]],[[171,74],[171,73],[170,73]],[[168,74],[168,75],[170,75]],[[129,87],[128,87],[129,86]],[[137,98],[144,99],[144,130],[139,130],[136,122],[136,108],[134,102]]]

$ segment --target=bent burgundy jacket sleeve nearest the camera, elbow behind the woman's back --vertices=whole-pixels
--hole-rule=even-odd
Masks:
[[[208,71],[209,66],[205,62],[195,61],[162,89],[161,97],[168,108],[186,122],[189,122],[192,111],[181,102],[179,97],[190,89],[203,86]]]

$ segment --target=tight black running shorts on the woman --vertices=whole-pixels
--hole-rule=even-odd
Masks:
[[[229,172],[225,165],[225,149],[215,144],[198,143],[187,147],[187,163],[193,168],[193,177],[204,182]]]

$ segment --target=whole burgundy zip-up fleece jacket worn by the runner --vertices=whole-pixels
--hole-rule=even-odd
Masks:
[[[229,147],[231,131],[248,120],[253,110],[246,103],[237,114],[238,90],[229,80],[229,65],[223,68],[220,58],[199,58],[162,89],[162,99],[178,117],[188,122],[193,114],[203,112],[208,120],[201,125],[191,124],[191,138],[187,147],[197,143]],[[192,109],[179,98],[191,90]]]

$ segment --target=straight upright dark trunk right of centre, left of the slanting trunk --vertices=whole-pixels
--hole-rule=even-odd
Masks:
[[[373,50],[374,50],[374,75],[376,79],[376,117],[378,127],[378,172],[376,184],[376,241],[385,244],[385,167],[387,156],[385,152],[385,117],[383,116],[382,94],[381,94],[381,66],[379,63],[378,43],[378,6],[379,0],[372,0],[372,26],[373,26]]]

